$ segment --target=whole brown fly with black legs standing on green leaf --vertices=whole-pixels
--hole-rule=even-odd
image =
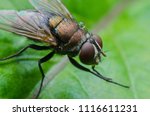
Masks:
[[[51,50],[47,56],[38,61],[38,66],[42,74],[38,98],[42,90],[45,78],[42,64],[50,60],[54,54],[67,55],[70,62],[78,69],[89,72],[107,82],[128,88],[128,86],[114,82],[111,78],[102,76],[96,71],[95,66],[99,64],[102,56],[106,56],[102,51],[102,39],[92,34],[76,22],[67,8],[60,0],[29,0],[35,10],[0,11],[0,29],[26,36],[29,39],[46,43],[47,46],[28,45],[18,53],[0,59],[8,60],[19,56],[27,49]],[[74,57],[79,56],[82,64],[91,65],[88,69],[78,63]]]

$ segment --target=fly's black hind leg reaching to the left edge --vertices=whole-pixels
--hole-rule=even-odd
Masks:
[[[11,55],[11,56],[8,56],[6,58],[2,58],[0,59],[0,61],[5,61],[5,60],[9,60],[11,58],[14,58],[14,57],[17,57],[19,55],[21,55],[23,52],[25,52],[27,49],[35,49],[35,50],[49,50],[50,49],[50,46],[38,46],[38,45],[34,45],[34,44],[31,44],[31,45],[28,45],[27,47],[21,49],[19,52],[17,52],[16,54],[14,55]]]

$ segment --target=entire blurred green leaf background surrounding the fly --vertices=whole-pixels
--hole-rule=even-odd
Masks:
[[[0,9],[33,9],[28,0],[0,0]],[[86,27],[104,41],[107,57],[97,66],[103,75],[129,85],[125,89],[80,71],[67,63],[47,82],[40,98],[145,99],[150,98],[150,1],[63,0]],[[7,14],[6,14],[7,15]],[[25,37],[0,31],[0,58],[34,43]],[[0,98],[33,96],[41,79],[37,61],[48,52],[28,50],[22,56],[0,62]],[[61,56],[43,65],[45,73],[57,70]],[[63,62],[63,61],[62,61]],[[51,71],[51,72],[52,72]],[[51,74],[48,74],[51,75]]]

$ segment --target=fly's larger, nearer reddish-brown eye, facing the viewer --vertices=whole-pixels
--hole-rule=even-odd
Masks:
[[[94,62],[95,49],[91,43],[85,43],[79,55],[80,61],[84,64],[91,65]]]

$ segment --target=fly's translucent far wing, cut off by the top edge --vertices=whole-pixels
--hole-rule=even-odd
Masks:
[[[73,19],[67,8],[60,0],[29,0],[30,3],[41,13],[52,13],[65,18]]]

